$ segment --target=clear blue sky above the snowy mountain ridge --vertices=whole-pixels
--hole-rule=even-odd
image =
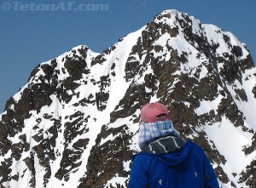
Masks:
[[[0,113],[32,69],[80,44],[101,53],[162,10],[177,9],[202,24],[232,32],[256,60],[254,0],[1,1]]]

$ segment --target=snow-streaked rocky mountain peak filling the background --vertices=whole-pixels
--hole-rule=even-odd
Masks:
[[[159,101],[222,187],[256,187],[256,69],[231,32],[166,10],[101,54],[32,71],[0,115],[0,187],[126,187],[140,108]]]

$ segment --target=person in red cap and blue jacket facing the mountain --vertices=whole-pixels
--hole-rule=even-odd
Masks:
[[[128,188],[218,188],[218,179],[201,146],[185,141],[160,103],[141,109],[138,145]]]

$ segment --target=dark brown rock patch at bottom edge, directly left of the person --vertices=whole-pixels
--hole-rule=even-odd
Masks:
[[[131,160],[132,155],[127,146],[132,135],[125,134],[127,130],[127,125],[122,125],[119,128],[102,127],[102,132],[98,134],[96,145],[92,148],[88,159],[86,178],[82,180],[79,187],[102,187],[117,172],[122,177],[129,175],[123,168],[123,162]],[[100,145],[101,140],[106,139],[105,136],[109,134],[113,135],[114,140],[108,140]],[[125,136],[123,137],[122,135]]]

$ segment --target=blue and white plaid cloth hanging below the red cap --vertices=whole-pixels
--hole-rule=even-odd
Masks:
[[[171,119],[159,122],[141,122],[138,133],[138,144],[142,149],[151,141],[166,135],[172,135],[177,138],[180,137],[177,130],[173,128]]]

